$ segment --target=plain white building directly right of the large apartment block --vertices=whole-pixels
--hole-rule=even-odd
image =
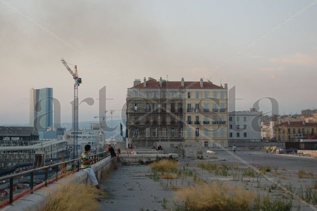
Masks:
[[[229,112],[229,145],[237,141],[250,142],[261,140],[261,123],[262,112],[250,109],[250,111]],[[230,144],[231,143],[231,144]]]

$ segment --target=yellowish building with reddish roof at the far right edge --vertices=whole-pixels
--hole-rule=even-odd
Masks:
[[[299,139],[316,139],[317,123],[305,121],[283,122],[274,125],[276,141],[297,141]]]

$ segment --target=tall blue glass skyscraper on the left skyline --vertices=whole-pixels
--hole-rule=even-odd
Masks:
[[[53,128],[53,88],[30,90],[30,126],[39,132]]]

